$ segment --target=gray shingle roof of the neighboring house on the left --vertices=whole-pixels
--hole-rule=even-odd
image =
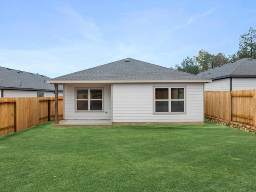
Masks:
[[[0,88],[52,91],[54,90],[54,84],[46,82],[50,79],[51,78],[40,74],[32,74],[20,70],[0,67]],[[58,90],[62,91],[63,86],[59,86]]]

